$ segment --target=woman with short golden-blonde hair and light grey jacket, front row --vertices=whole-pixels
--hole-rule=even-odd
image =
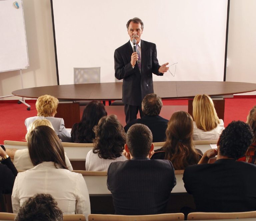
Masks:
[[[37,117],[29,117],[25,120],[28,129],[29,125],[38,119],[47,119],[52,123],[54,131],[62,142],[71,142],[70,132],[64,125],[63,118],[54,117],[57,113],[58,99],[51,95],[42,95],[36,101]]]

